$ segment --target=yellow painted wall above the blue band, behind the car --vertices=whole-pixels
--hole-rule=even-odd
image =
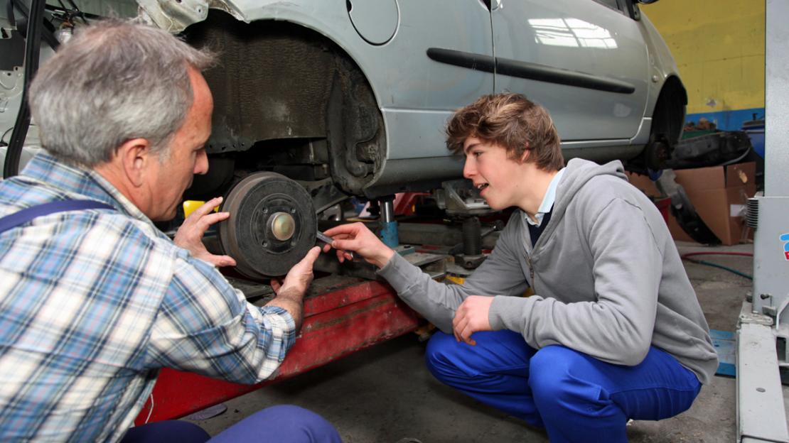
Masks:
[[[765,2],[661,0],[641,5],[688,91],[688,114],[765,107]]]

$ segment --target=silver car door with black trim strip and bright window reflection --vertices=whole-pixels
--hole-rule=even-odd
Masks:
[[[617,0],[493,0],[491,9],[495,91],[548,108],[563,142],[636,135],[649,57]]]

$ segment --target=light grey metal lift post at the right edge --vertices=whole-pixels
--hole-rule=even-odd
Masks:
[[[737,331],[737,441],[787,442],[780,367],[789,337],[789,4],[767,0],[765,28],[765,196],[748,202],[753,296]]]

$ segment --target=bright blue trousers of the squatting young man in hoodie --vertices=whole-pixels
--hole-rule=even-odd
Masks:
[[[701,383],[658,348],[628,367],[560,345],[539,351],[510,330],[477,332],[476,346],[436,333],[428,370],[439,381],[544,427],[552,443],[625,442],[628,419],[660,420],[686,411]]]

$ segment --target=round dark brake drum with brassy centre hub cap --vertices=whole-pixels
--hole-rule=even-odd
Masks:
[[[317,222],[309,193],[278,173],[253,173],[226,196],[219,244],[236,270],[254,279],[276,277],[315,245]]]

